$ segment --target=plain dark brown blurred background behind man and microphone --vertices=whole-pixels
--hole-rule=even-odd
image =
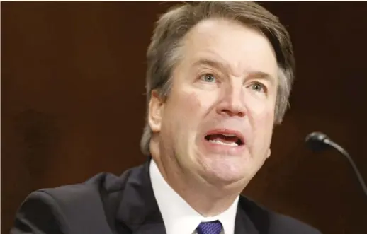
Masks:
[[[367,197],[323,131],[367,180],[367,3],[266,1],[297,62],[272,156],[244,194],[323,233],[367,233]],[[145,160],[145,52],[159,1],[1,2],[1,231],[27,194],[122,173]]]

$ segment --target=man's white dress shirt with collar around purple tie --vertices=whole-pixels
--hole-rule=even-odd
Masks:
[[[235,233],[235,217],[238,199],[218,216],[204,217],[172,189],[154,160],[150,163],[150,180],[159,210],[162,213],[167,234],[195,234],[199,223],[219,220],[222,223],[222,234]]]

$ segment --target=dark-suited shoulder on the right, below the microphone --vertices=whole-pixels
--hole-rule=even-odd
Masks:
[[[281,213],[270,211],[247,197],[240,197],[239,206],[244,210],[257,229],[266,229],[264,230],[266,231],[265,233],[321,234],[319,230],[307,223],[303,223]]]

